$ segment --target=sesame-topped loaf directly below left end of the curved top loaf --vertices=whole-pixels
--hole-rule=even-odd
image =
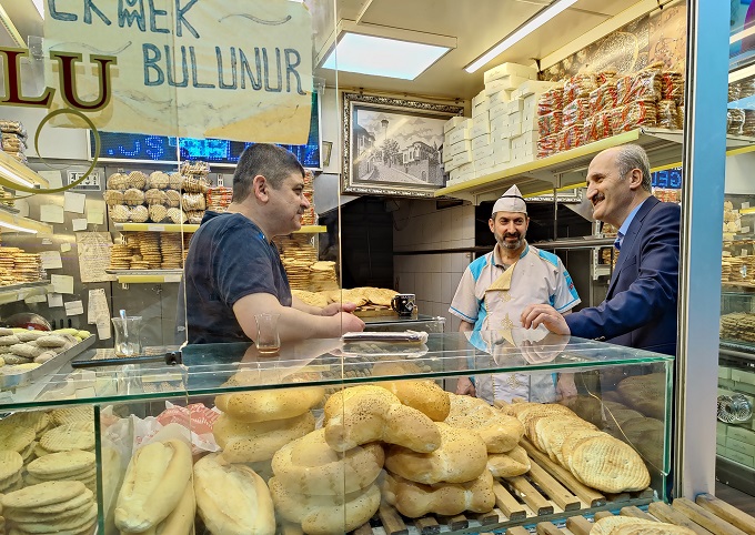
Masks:
[[[272,466],[275,477],[289,489],[338,496],[372,485],[384,460],[382,446],[374,442],[338,453],[325,443],[324,430],[318,430],[283,446]]]

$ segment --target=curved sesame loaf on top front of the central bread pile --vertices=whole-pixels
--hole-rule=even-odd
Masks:
[[[336,412],[339,405],[343,410]],[[402,405],[380,386],[353,386],[333,394],[325,404],[325,441],[336,452],[374,441],[423,453],[441,445],[435,422],[416,408]]]

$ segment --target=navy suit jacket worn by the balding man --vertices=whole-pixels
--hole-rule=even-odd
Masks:
[[[565,316],[573,336],[676,354],[680,206],[648,198],[627,229],[608,293]]]

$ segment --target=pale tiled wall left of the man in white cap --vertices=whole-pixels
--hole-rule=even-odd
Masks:
[[[435,201],[402,200],[393,222],[395,252],[474,246],[471,204],[436,210]],[[449,313],[449,305],[470,261],[469,253],[394,254],[396,289],[416,294],[420,314],[443,316],[445,332],[455,332],[459,319]]]

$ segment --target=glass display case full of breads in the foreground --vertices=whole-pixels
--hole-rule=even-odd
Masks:
[[[284,344],[273,356],[243,343],[189,345],[168,353],[173,365],[159,347],[118,367],[91,353],[41,392],[6,392],[0,432],[18,452],[4,492],[64,481],[66,491],[47,485],[40,511],[82,507],[79,524],[98,533],[191,526],[195,516],[212,533],[256,522],[269,533],[393,522],[474,532],[665,497],[667,355],[516,330],[363,333]],[[538,393],[550,403],[480,401],[484,425],[473,425],[464,415],[479,400],[435,383],[501,374],[550,385]],[[568,394],[556,388],[562,376]],[[432,496],[440,488],[477,498],[449,508]],[[18,505],[3,502],[7,525],[21,526],[13,507],[31,505],[14,496]]]

